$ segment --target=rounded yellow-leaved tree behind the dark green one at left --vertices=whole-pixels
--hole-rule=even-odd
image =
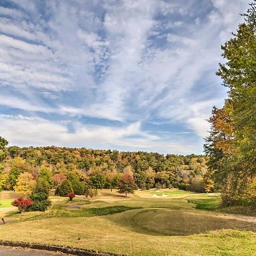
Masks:
[[[30,195],[36,186],[36,181],[33,179],[32,174],[23,172],[19,175],[14,191],[24,196]]]

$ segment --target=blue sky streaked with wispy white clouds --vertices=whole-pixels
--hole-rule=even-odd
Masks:
[[[202,154],[247,0],[0,1],[0,136],[13,146]]]

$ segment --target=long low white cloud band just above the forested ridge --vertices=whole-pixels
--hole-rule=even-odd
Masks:
[[[75,131],[70,133],[67,122],[48,121],[23,115],[0,115],[1,136],[8,138],[10,146],[79,146],[159,152],[192,152],[196,147],[186,142],[165,142],[159,137],[145,133],[140,123],[125,127],[92,126],[74,123]],[[134,137],[136,136],[136,137]],[[36,138],[36,139],[35,139]]]

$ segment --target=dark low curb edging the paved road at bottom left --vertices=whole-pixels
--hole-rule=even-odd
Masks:
[[[117,254],[109,253],[96,253],[95,251],[88,251],[79,248],[63,247],[56,245],[44,245],[40,243],[28,243],[28,242],[13,242],[13,241],[0,241],[2,246],[10,247],[23,247],[36,250],[46,250],[46,251],[60,251],[61,253],[79,255],[79,256],[117,256]]]

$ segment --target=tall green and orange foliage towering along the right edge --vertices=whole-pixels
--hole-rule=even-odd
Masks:
[[[249,191],[256,170],[256,1],[245,21],[222,46],[227,60],[216,73],[229,89],[222,108],[213,108],[204,150],[210,175],[226,205],[255,204]]]

